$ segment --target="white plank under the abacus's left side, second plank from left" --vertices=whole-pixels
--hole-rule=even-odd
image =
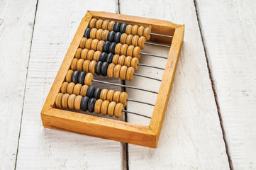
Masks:
[[[43,128],[40,111],[88,9],[115,1],[39,1],[28,68],[17,169],[123,169],[121,142]]]

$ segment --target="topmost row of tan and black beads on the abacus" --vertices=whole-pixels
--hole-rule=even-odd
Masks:
[[[149,27],[131,25],[127,23],[120,23],[114,21],[103,21],[102,19],[97,20],[92,18],[89,23],[89,28],[96,28],[102,30],[113,30],[114,32],[126,33],[128,35],[144,36],[147,40],[150,39],[151,29]]]

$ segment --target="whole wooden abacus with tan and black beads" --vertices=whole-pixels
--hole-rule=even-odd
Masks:
[[[184,26],[169,21],[87,11],[77,29],[41,112],[45,128],[76,132],[145,147],[157,147],[172,82],[182,49]],[[143,52],[145,45],[169,48],[168,57]],[[165,68],[139,62],[140,55],[166,60]],[[162,79],[137,74],[138,67],[164,70]],[[133,81],[143,77],[161,81],[159,91],[101,81],[96,76]],[[98,84],[120,86],[157,94],[155,104],[129,98],[126,91],[96,88]],[[128,102],[154,106],[150,125],[138,125],[121,118]],[[77,111],[80,111],[79,113]],[[89,115],[85,111],[94,113]],[[97,115],[108,115],[104,118]]]

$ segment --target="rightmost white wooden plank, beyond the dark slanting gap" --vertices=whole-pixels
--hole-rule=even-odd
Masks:
[[[256,1],[198,1],[233,169],[256,169]]]

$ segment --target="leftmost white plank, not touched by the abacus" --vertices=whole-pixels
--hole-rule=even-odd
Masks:
[[[14,169],[36,1],[0,2],[0,169]]]

